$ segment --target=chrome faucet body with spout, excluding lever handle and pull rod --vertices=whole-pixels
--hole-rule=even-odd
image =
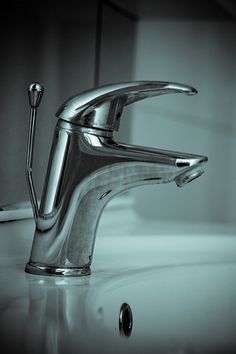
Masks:
[[[102,102],[107,108],[107,101]],[[116,100],[116,113],[120,106]],[[83,125],[75,124],[74,118],[63,119],[67,104],[63,107],[58,114],[26,271],[88,275],[99,219],[111,198],[142,184],[175,181],[182,186],[202,174],[207,158],[117,143],[112,129],[96,126],[94,114],[93,124],[88,116],[87,124],[85,118]],[[99,118],[101,111],[104,114],[104,106],[100,107]]]

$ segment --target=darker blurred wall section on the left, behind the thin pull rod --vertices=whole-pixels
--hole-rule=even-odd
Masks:
[[[11,0],[0,14],[0,203],[28,199],[24,166],[31,82],[43,84],[33,176],[40,198],[60,105],[100,84],[132,80],[136,16],[97,0]],[[121,135],[128,138],[130,124]]]

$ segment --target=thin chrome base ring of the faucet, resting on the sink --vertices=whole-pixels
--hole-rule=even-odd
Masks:
[[[62,277],[78,277],[91,274],[90,267],[75,268],[75,267],[53,267],[40,263],[28,262],[25,267],[26,273],[47,275],[47,276],[62,276]]]

